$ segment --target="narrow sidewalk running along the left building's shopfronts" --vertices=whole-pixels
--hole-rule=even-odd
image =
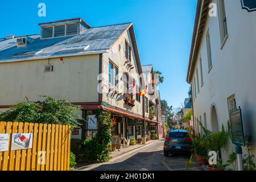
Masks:
[[[112,157],[110,159],[110,161],[112,159],[115,159],[115,158],[117,158],[119,156],[122,156],[123,154],[126,154],[128,152],[139,150],[139,148],[145,147],[148,144],[154,143],[156,141],[158,141],[158,140],[150,140],[150,141],[146,142],[146,144],[136,144],[134,146],[129,146],[129,147],[125,147],[125,148],[121,148],[119,150],[113,151],[110,154],[111,157]],[[106,163],[109,163],[109,162],[106,162]],[[80,170],[89,170],[89,169],[93,169],[93,168],[96,168],[98,166],[101,166],[102,164],[104,164],[104,163],[93,163],[93,164],[83,163],[83,164],[78,164],[77,167],[75,168],[75,170],[78,170],[78,171],[80,171]]]

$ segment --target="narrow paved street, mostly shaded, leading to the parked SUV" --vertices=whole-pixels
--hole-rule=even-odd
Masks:
[[[164,140],[158,140],[152,144],[140,148],[137,151],[129,152],[110,162],[97,166],[92,170],[101,171],[176,171],[187,170],[186,164],[189,156],[186,155],[169,155],[168,158],[163,155]],[[203,167],[195,163],[191,164],[189,170],[204,170]]]

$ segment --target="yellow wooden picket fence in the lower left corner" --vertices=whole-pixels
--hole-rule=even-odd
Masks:
[[[0,171],[69,171],[70,130],[67,125],[0,122],[0,134],[10,134],[9,150],[0,152]],[[13,133],[32,133],[32,148],[11,150]]]

